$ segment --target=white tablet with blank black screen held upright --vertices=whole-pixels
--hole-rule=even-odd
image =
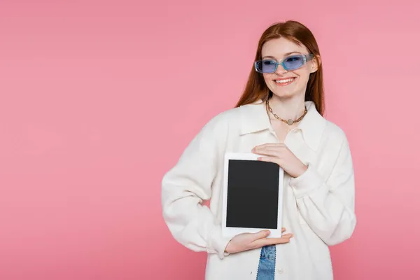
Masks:
[[[269,230],[281,237],[283,169],[254,153],[226,153],[223,178],[224,237]]]

